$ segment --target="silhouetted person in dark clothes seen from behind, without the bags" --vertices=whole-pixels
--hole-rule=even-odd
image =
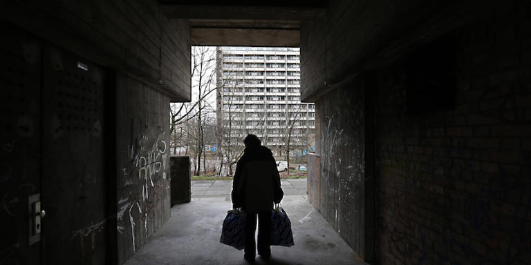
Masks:
[[[256,135],[248,135],[243,140],[245,150],[236,164],[232,183],[232,206],[241,207],[247,213],[245,222],[245,254],[248,262],[254,262],[256,244],[254,231],[257,229],[258,215],[258,254],[262,259],[271,256],[271,210],[278,204],[284,193],[280,187],[280,176],[271,150],[261,146]]]

